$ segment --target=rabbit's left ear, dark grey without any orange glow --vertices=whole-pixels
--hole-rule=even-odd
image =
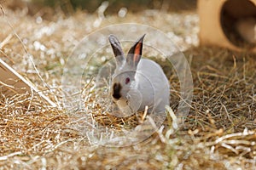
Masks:
[[[121,48],[119,40],[117,39],[117,37],[110,35],[108,37],[108,41],[110,42],[113,49],[113,54],[115,56],[117,65],[122,65],[125,61],[125,54]]]

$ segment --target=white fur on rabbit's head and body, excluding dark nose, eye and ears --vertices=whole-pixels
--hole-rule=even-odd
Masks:
[[[117,39],[114,40],[117,41]],[[111,42],[111,40],[109,41]],[[113,42],[111,44],[113,45]],[[119,42],[116,42],[116,44],[119,46]],[[121,86],[119,90],[121,97],[119,99],[113,98],[119,110],[124,112],[125,115],[131,115],[137,111],[143,111],[145,106],[148,105],[149,113],[152,111],[156,113],[164,112],[165,106],[170,105],[170,85],[160,65],[150,59],[138,59],[137,65],[134,67],[125,59],[122,51],[120,51],[120,54],[123,57],[117,58],[116,55],[117,66],[112,81],[112,94],[115,83],[119,83]],[[132,71],[134,74],[132,74]],[[125,85],[123,83],[125,77],[134,79],[131,80],[131,83]]]

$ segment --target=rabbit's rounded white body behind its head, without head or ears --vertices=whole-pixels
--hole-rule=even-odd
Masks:
[[[160,112],[165,111],[165,105],[169,105],[169,82],[160,65],[156,64],[153,60],[140,60],[137,65],[135,82],[131,88],[137,89],[143,97],[138,111],[144,110],[145,106],[148,105],[148,111],[153,109],[153,111]],[[133,91],[131,90],[131,92]],[[127,95],[129,96],[129,94],[128,92]],[[136,99],[131,98],[131,106],[132,101],[137,102]]]

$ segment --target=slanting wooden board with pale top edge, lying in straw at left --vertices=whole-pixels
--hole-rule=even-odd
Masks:
[[[46,97],[42,92],[35,88],[31,82],[28,82],[12,67],[7,65],[0,59],[0,93],[5,96],[14,94],[38,94],[42,99],[47,101],[49,105],[56,107],[57,105]]]

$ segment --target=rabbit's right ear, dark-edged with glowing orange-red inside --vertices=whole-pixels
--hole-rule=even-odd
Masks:
[[[137,42],[135,42],[135,44],[130,48],[128,52],[126,62],[128,63],[128,65],[131,65],[132,67],[137,67],[138,62],[142,57],[144,37],[145,34]]]

